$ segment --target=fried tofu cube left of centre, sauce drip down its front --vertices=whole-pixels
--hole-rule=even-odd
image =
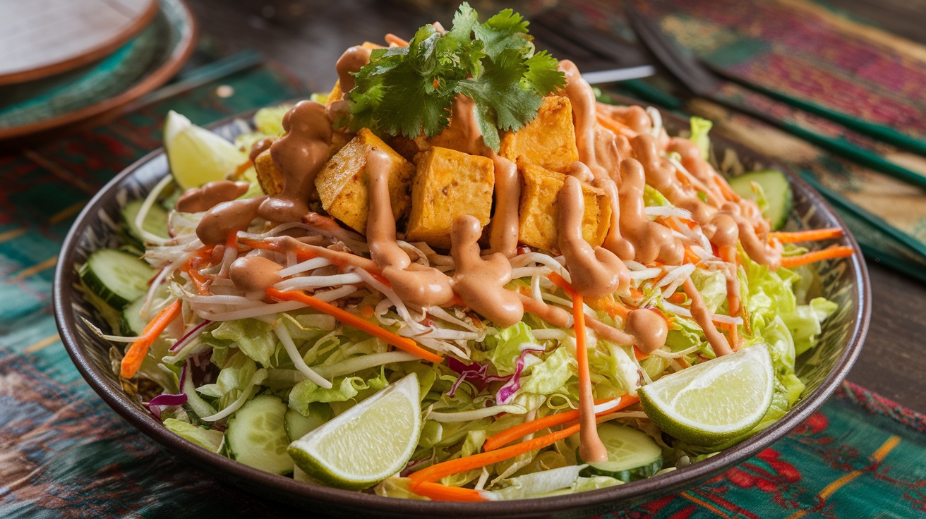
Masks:
[[[315,178],[321,206],[329,215],[359,232],[367,233],[369,215],[369,174],[367,153],[376,148],[392,159],[389,170],[389,198],[393,216],[406,216],[411,204],[408,190],[415,175],[415,165],[395,153],[372,131],[361,129],[357,136],[325,163]]]

